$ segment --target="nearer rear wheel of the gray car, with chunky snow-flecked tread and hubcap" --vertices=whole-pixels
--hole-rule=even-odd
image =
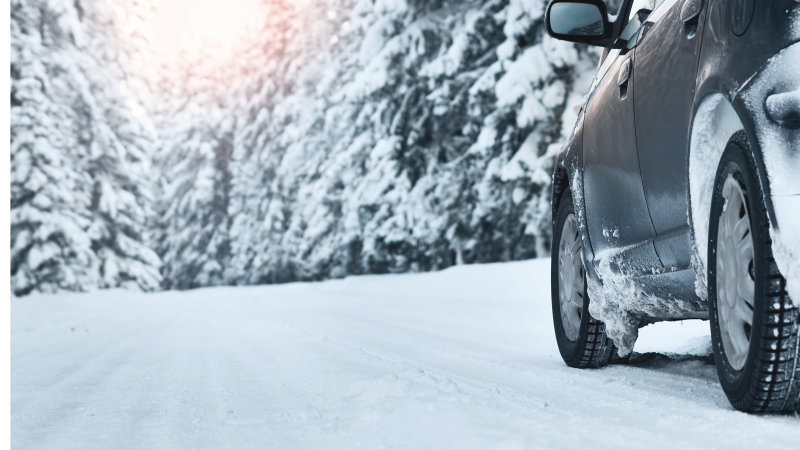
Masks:
[[[798,308],[772,257],[770,223],[744,133],[717,170],[708,243],[708,305],[720,384],[746,412],[800,408]]]

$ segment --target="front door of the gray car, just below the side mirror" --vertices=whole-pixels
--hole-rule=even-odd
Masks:
[[[596,76],[585,112],[583,192],[595,264],[616,254],[612,270],[645,273],[661,265],[639,170],[633,56],[629,48],[611,50]]]

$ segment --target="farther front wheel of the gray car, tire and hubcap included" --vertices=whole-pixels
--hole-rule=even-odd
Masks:
[[[563,194],[553,228],[551,295],[558,350],[570,367],[602,367],[625,362],[606,335],[603,322],[589,314],[586,271],[570,191]]]

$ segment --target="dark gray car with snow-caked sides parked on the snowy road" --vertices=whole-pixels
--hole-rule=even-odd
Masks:
[[[564,361],[708,319],[731,404],[800,411],[800,2],[555,0],[546,22],[605,47],[554,173]]]

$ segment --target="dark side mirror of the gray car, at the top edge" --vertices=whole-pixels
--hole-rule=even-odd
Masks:
[[[555,39],[610,47],[613,23],[602,0],[553,0],[545,13],[547,33]]]

